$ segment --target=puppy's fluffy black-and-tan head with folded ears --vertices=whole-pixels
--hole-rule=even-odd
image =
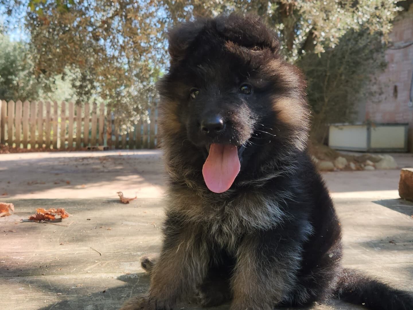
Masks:
[[[175,179],[197,179],[203,166],[204,179],[214,179],[219,167],[230,167],[232,186],[268,161],[304,150],[304,79],[280,59],[275,32],[258,17],[185,23],[169,32],[169,53],[169,72],[158,84],[159,124]]]

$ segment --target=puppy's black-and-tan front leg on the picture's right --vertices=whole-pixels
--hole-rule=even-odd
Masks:
[[[237,251],[231,310],[272,310],[292,290],[300,260],[299,243],[287,236],[245,236]]]

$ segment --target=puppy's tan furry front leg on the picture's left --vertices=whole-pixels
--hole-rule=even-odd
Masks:
[[[151,272],[149,308],[175,308],[178,298],[204,279],[209,262],[207,252],[192,231],[166,233],[161,255]]]

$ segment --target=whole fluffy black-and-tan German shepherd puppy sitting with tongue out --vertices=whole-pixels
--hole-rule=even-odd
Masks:
[[[149,297],[123,309],[175,309],[195,290],[203,306],[231,310],[331,297],[412,310],[408,293],[340,265],[339,220],[307,153],[306,83],[275,31],[249,15],[200,19],[169,33],[169,53],[163,246]]]

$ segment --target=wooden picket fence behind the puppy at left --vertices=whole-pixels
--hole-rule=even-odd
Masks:
[[[141,149],[157,146],[157,109],[142,115],[133,130],[122,133],[113,114],[99,107],[73,102],[0,101],[0,143],[14,148]]]

